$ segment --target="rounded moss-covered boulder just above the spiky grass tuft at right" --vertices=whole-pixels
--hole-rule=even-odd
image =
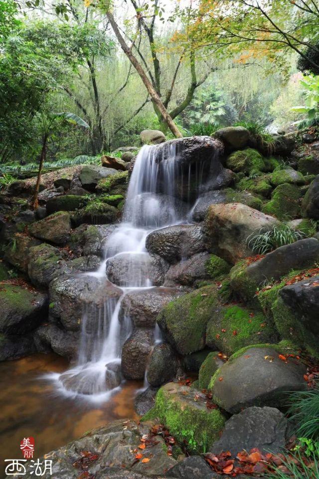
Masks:
[[[263,206],[261,211],[279,220],[293,220],[301,215],[301,197],[302,193],[297,186],[284,183],[273,191],[272,199]]]

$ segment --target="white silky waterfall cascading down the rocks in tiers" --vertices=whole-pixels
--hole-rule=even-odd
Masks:
[[[87,306],[83,312],[77,364],[55,377],[65,394],[105,400],[121,383],[121,349],[132,330],[130,321],[119,317],[121,302],[128,292],[154,285],[146,237],[165,226],[187,223],[194,188],[202,184],[203,163],[197,162],[191,173],[190,165],[185,169],[176,158],[175,142],[167,142],[160,147],[144,146],[136,159],[123,221],[107,242],[99,270],[88,273],[105,281],[106,274],[112,279],[121,267],[124,272],[116,284],[122,296],[109,298],[99,308]],[[155,343],[159,337],[156,330]]]

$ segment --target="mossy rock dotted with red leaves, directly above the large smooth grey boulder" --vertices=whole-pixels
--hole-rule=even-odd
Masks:
[[[228,355],[251,344],[277,340],[273,324],[261,311],[240,305],[222,307],[207,324],[207,345]]]

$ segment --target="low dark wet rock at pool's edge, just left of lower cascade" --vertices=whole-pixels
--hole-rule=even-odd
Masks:
[[[79,340],[78,332],[64,331],[53,323],[42,324],[34,332],[34,342],[39,352],[49,346],[56,354],[70,360],[77,357]]]

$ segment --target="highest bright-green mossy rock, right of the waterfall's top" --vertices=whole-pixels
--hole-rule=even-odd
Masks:
[[[235,151],[227,158],[226,166],[235,173],[243,172],[246,175],[267,171],[264,158],[253,148]]]

